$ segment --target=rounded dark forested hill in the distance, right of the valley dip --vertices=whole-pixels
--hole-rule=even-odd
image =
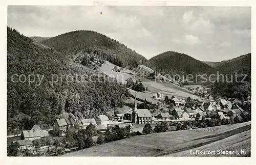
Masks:
[[[215,69],[186,54],[166,51],[149,60],[150,67],[164,74],[211,74]]]

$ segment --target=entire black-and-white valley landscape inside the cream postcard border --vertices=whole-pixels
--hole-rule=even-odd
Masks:
[[[8,6],[8,157],[251,156],[250,7],[100,9]]]

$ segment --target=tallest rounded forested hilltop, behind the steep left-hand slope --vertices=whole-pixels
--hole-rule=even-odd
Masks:
[[[130,66],[133,68],[147,62],[136,51],[114,39],[92,31],[69,32],[43,40],[41,43],[67,55],[87,51],[120,67]]]

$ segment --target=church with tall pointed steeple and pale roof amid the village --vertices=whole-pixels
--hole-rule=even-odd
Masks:
[[[148,109],[137,109],[136,96],[133,105],[132,123],[147,124],[153,123],[152,115]]]

